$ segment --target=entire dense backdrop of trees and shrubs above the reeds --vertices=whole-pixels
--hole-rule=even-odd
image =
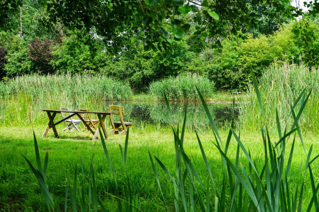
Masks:
[[[20,5],[14,2],[6,4],[12,3],[14,9]],[[103,73],[127,80],[135,92],[146,92],[152,81],[191,73],[208,77],[217,89],[240,91],[250,81],[250,66],[258,77],[276,60],[308,63],[308,56],[315,57],[315,49],[319,49],[315,39],[318,20],[313,17],[316,3],[300,23],[290,22],[291,17],[303,12],[292,14],[295,8],[286,1],[265,1],[262,5],[259,1],[239,5],[237,1],[233,8],[226,6],[227,1],[220,5],[185,2],[182,6],[182,1],[168,1],[167,11],[162,3],[154,0],[137,5],[128,1],[110,7],[107,1],[102,5],[96,1],[61,1],[61,5],[23,1],[21,13],[11,10],[1,22],[0,46],[4,50],[0,77]],[[130,10],[130,6],[137,10]],[[101,11],[109,16],[103,19]],[[156,11],[162,18],[153,16]],[[227,20],[230,16],[234,16],[234,23]],[[169,19],[172,21],[167,22]],[[8,20],[11,24],[4,25]],[[112,27],[105,27],[110,24]],[[313,39],[311,44],[305,42],[305,36]]]

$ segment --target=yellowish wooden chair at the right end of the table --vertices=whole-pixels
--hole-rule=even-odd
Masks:
[[[123,120],[124,107],[123,106],[109,105],[108,111],[113,112],[112,114],[109,115],[110,122],[111,122],[111,125],[113,128],[111,131],[109,131],[109,133],[124,135],[127,131],[127,128],[131,127],[132,124],[134,124],[133,122],[124,122],[124,120]],[[119,115],[120,121],[114,122],[112,115]],[[120,128],[121,126],[122,126],[122,128]]]

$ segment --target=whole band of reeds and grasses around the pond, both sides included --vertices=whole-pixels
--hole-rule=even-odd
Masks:
[[[163,102],[161,90],[167,93],[168,102],[199,102],[195,85],[207,103],[236,103],[241,129],[258,131],[260,126],[270,124],[276,130],[276,118],[271,116],[278,110],[282,124],[292,124],[288,118],[290,104],[295,101],[303,88],[313,89],[310,99],[300,120],[302,132],[319,133],[318,69],[304,64],[289,65],[275,62],[258,78],[261,100],[264,103],[266,119],[263,120],[255,89],[251,83],[242,94],[232,94],[214,88],[214,82],[205,76],[188,74],[154,81],[147,92],[134,93],[127,81],[110,78],[104,74],[59,74],[59,75],[22,75],[7,82],[0,82],[0,117],[2,124],[9,120],[28,123],[28,119],[44,119],[36,108],[55,108],[63,105],[69,108],[91,108],[105,110],[105,99],[109,102]],[[52,83],[53,82],[53,83]],[[203,92],[204,91],[204,92]],[[103,104],[102,104],[103,103]],[[6,121],[7,120],[7,121]],[[283,121],[286,120],[286,121]]]

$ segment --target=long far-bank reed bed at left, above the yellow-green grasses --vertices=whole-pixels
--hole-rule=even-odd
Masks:
[[[54,74],[22,75],[0,84],[0,95],[23,93],[39,97],[89,96],[96,100],[129,99],[133,92],[128,82],[119,81],[103,74]]]

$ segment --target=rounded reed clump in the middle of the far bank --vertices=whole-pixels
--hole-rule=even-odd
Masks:
[[[153,81],[148,89],[155,101],[164,100],[164,91],[170,101],[199,101],[195,85],[205,99],[210,99],[215,93],[215,82],[197,74],[168,77]]]

